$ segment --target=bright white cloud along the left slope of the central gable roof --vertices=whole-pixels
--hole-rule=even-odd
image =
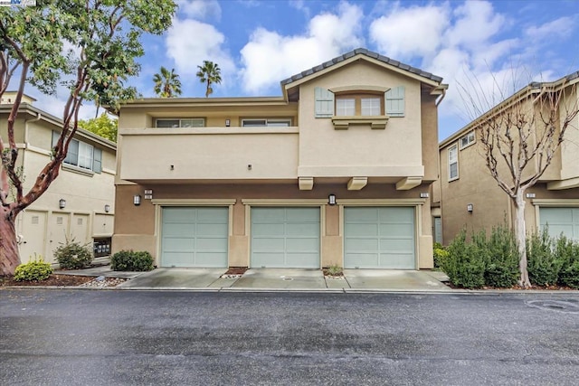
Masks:
[[[363,45],[363,13],[357,5],[342,2],[337,14],[318,14],[302,35],[283,36],[257,28],[242,48],[242,87],[259,93],[299,71],[318,65]]]

